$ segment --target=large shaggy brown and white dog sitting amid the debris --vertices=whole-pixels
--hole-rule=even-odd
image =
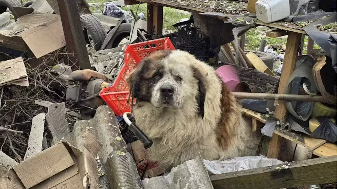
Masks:
[[[153,140],[149,155],[161,166],[177,166],[199,153],[215,160],[260,152],[261,137],[252,134],[230,89],[188,52],[155,52],[127,82],[137,100],[136,125]]]

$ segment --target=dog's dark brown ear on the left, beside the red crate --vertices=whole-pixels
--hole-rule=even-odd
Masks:
[[[126,82],[130,87],[130,92],[132,93],[133,98],[137,98],[139,91],[139,84],[141,82],[141,70],[143,67],[144,61],[142,61],[136,69],[134,69],[129,76],[126,78]]]

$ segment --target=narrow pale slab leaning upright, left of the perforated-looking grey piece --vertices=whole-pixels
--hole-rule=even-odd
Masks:
[[[33,117],[32,127],[28,138],[28,147],[24,160],[36,155],[42,150],[44,118],[45,113],[40,113]]]

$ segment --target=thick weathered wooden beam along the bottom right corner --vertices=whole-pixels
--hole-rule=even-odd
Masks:
[[[287,168],[279,170],[274,165],[212,175],[214,189],[278,189],[310,184],[334,183],[337,181],[337,156],[284,163]],[[317,175],[317,170],[319,175]]]

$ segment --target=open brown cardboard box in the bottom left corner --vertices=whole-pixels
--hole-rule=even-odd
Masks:
[[[87,143],[90,145],[86,146],[93,149],[100,147],[96,141]],[[85,146],[81,149],[83,152],[59,142],[13,166],[9,170],[12,179],[6,185],[3,183],[8,179],[0,167],[0,186],[8,186],[4,189],[98,189],[96,151]]]

